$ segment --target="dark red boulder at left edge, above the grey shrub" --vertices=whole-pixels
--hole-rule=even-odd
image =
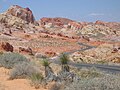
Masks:
[[[0,50],[13,52],[13,46],[8,42],[0,42]]]

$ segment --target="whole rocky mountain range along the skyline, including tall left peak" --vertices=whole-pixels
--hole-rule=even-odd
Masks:
[[[24,33],[56,34],[67,37],[120,35],[120,22],[76,22],[67,18],[43,17],[36,21],[29,8],[11,6],[0,14],[0,32],[23,31]]]

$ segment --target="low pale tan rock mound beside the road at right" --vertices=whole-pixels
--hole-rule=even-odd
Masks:
[[[116,46],[119,46],[119,44]],[[97,48],[89,49],[83,52],[75,52],[72,56],[74,62],[85,63],[106,63],[120,62],[120,51],[113,44],[101,44]]]

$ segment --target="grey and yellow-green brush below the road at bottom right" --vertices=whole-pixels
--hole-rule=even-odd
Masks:
[[[51,90],[119,90],[120,76],[104,73],[96,68],[81,69],[77,75],[80,79],[73,82],[55,83]]]

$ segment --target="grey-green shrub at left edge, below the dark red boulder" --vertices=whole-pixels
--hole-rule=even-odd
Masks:
[[[16,64],[28,62],[27,58],[18,53],[4,53],[0,55],[0,66],[11,69]]]

